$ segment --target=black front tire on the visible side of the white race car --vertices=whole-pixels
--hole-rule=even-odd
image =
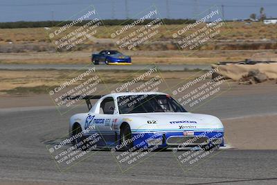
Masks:
[[[131,129],[130,129],[129,125],[124,125],[120,129],[120,143],[123,146],[121,148],[121,150],[127,151],[133,147],[133,142],[131,139],[132,139]],[[127,143],[125,143],[125,142],[127,142]]]

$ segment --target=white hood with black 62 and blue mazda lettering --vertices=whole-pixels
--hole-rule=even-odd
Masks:
[[[134,130],[151,129],[152,127],[172,130],[223,130],[224,126],[219,118],[207,114],[193,114],[189,112],[170,113],[142,113],[121,114],[129,120]]]

